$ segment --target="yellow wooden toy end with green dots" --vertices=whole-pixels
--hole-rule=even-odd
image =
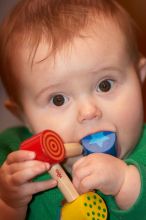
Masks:
[[[103,199],[94,192],[80,195],[62,208],[61,220],[106,220],[107,207]]]

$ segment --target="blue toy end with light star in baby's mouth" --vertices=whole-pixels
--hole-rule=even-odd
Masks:
[[[81,139],[84,155],[106,153],[117,156],[117,136],[112,131],[100,131]]]

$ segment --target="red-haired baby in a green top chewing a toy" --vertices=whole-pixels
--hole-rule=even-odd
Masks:
[[[0,220],[61,218],[50,164],[18,150],[44,129],[65,143],[116,132],[117,157],[95,153],[63,165],[79,193],[100,191],[110,220],[146,216],[146,61],[116,1],[19,1],[1,27],[0,75],[5,106],[25,125],[0,135]]]

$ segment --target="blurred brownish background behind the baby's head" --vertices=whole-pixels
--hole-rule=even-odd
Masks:
[[[3,17],[11,10],[13,5],[19,0],[0,0],[0,22]],[[135,19],[140,27],[138,42],[142,53],[146,56],[146,0],[117,0],[123,5]],[[143,86],[145,121],[146,121],[146,83]],[[3,106],[6,94],[0,82],[0,131],[3,129],[20,124]]]

